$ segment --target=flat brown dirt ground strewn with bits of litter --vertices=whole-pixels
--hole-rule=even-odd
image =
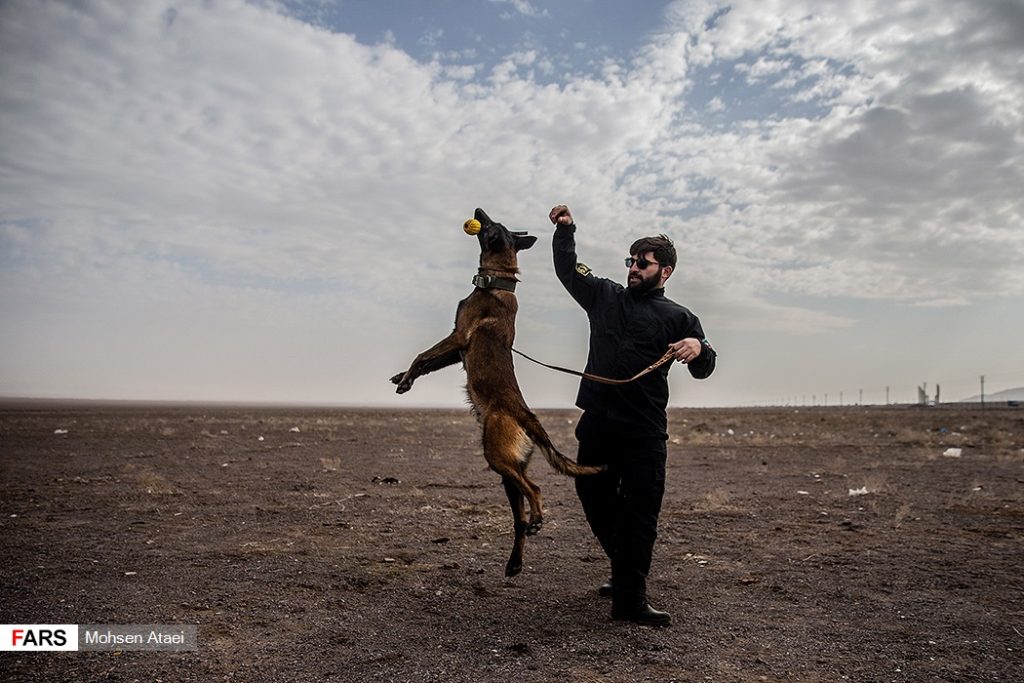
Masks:
[[[538,414],[574,454],[577,412]],[[674,410],[670,431],[658,630],[610,620],[540,456],[546,525],[504,577],[466,410],[2,405],[0,622],[200,644],[0,652],[3,680],[1022,680],[1024,410]]]

